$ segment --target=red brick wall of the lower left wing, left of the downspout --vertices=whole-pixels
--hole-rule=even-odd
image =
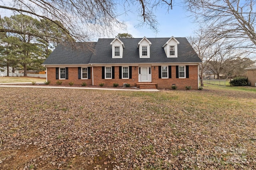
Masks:
[[[56,68],[48,67],[47,68],[47,80],[50,80],[50,84],[56,84]],[[68,67],[68,79],[59,80],[62,81],[62,84],[68,84],[69,82],[74,82],[74,84],[82,84],[85,82],[87,85],[92,85],[92,68],[91,68],[91,79],[78,79],[78,67]]]

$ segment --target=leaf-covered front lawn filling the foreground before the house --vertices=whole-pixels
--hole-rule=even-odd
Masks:
[[[256,169],[256,93],[0,88],[0,169]]]

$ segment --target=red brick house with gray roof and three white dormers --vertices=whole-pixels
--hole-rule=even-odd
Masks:
[[[199,63],[186,38],[144,37],[60,44],[42,65],[51,83],[197,89]]]

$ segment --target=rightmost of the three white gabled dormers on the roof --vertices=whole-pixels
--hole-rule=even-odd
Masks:
[[[180,42],[177,41],[173,36],[164,44],[163,48],[166,54],[166,57],[177,58],[178,57],[178,44]]]

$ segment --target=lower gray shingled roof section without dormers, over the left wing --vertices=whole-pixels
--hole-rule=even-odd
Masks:
[[[88,64],[96,42],[59,44],[43,64]]]

